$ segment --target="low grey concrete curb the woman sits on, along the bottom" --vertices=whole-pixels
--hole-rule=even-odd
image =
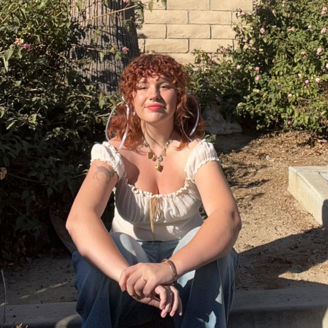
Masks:
[[[1,328],[81,326],[75,302],[1,306],[4,316]],[[228,328],[328,328],[328,286],[236,291]]]

